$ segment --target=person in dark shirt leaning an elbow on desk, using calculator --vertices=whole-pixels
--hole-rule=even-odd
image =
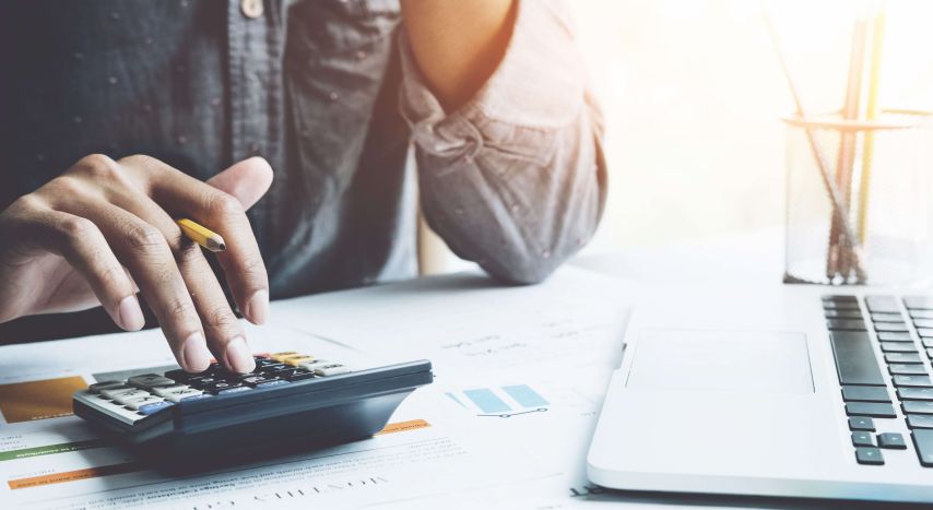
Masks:
[[[237,310],[261,324],[270,297],[414,275],[417,203],[510,284],[599,223],[602,120],[559,2],[5,7],[3,342],[134,331],[151,309],[186,370],[247,372]]]

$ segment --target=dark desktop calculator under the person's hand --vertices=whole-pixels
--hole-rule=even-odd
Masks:
[[[255,357],[250,373],[214,363],[101,381],[74,393],[74,414],[144,460],[194,467],[370,437],[434,380],[428,360],[354,371],[298,352]]]

